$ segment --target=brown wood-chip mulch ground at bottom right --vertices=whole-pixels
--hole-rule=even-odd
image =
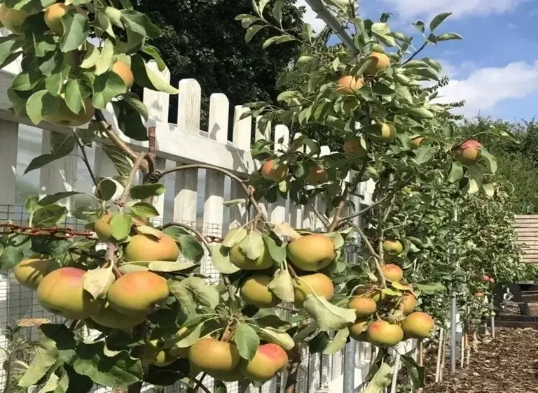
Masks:
[[[496,337],[478,345],[468,367],[450,373],[446,362],[442,383],[434,383],[435,356],[425,359],[425,393],[538,392],[538,329],[499,328]]]

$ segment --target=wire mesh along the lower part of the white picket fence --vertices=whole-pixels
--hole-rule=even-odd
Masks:
[[[10,220],[13,224],[21,226],[27,225],[29,216],[23,206],[3,205],[0,204],[0,222]],[[181,222],[197,229],[203,236],[220,237],[223,233],[221,224],[207,222]],[[82,231],[85,221],[77,220],[74,217],[67,217],[63,223],[64,227]],[[353,244],[346,245],[347,252],[355,251]],[[208,255],[202,259],[201,272],[205,276],[218,277],[219,271],[209,262]],[[22,287],[13,275],[6,272],[1,273],[0,277],[0,347],[9,352],[13,352],[11,362],[6,362],[6,355],[1,355],[0,362],[4,362],[4,372],[0,371],[0,392],[6,393],[29,393],[37,390],[25,389],[17,386],[18,379],[25,370],[25,364],[31,362],[36,349],[38,329],[36,327],[23,327],[16,334],[11,334],[10,329],[17,326],[20,320],[43,319],[53,323],[65,322],[58,315],[49,313],[44,310],[36,300],[34,291]],[[286,317],[287,315],[282,315]],[[88,336],[94,336],[95,331],[86,331]],[[18,345],[18,350],[15,350]],[[4,352],[4,351],[0,351]],[[309,354],[308,348],[303,348],[302,364],[298,371],[297,393],[317,392],[326,386],[331,380],[334,380],[343,373],[343,352],[334,355],[321,355],[319,353]],[[21,363],[22,362],[22,363]],[[9,375],[9,384],[6,385],[7,376]],[[250,393],[281,393],[284,392],[286,373],[278,376],[262,387],[250,387]],[[210,383],[210,378],[206,378],[205,383]],[[227,383],[229,393],[245,392],[244,387],[237,383]],[[145,385],[143,392],[153,393],[184,393],[186,387],[181,383],[168,387],[152,387]],[[95,386],[93,392],[105,393],[112,391],[106,387]]]

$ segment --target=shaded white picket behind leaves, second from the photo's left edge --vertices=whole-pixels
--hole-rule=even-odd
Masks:
[[[53,134],[50,131],[43,130],[43,154],[50,152],[50,143]],[[41,167],[41,182],[39,187],[39,197],[54,194],[56,192],[74,191],[76,184],[76,173],[78,157],[78,146],[75,146],[71,155],[57,159],[50,164]],[[58,205],[67,207],[71,210],[74,207],[74,198],[69,197],[57,202]]]

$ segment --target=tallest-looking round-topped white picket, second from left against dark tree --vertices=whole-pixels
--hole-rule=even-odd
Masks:
[[[179,82],[179,97],[177,106],[177,127],[185,134],[191,134],[193,138],[202,141],[208,138],[199,136],[200,131],[200,100],[201,89],[194,79],[185,79]],[[183,136],[176,134],[174,140],[181,144]],[[160,134],[159,134],[160,136]],[[209,139],[208,139],[209,140]],[[214,142],[218,143],[218,142]],[[160,150],[160,144],[158,145]],[[206,152],[205,155],[210,152]],[[177,165],[184,163],[177,160]],[[198,170],[187,169],[176,172],[176,197],[174,198],[174,221],[196,221],[196,196],[198,192]]]

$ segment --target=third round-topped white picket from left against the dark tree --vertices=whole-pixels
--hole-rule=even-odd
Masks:
[[[209,138],[226,144],[228,141],[228,114],[230,103],[224,94],[212,94],[209,101]],[[223,224],[223,201],[224,201],[224,175],[217,171],[205,171],[205,195],[204,195],[204,222],[218,225],[218,229],[212,229],[215,236],[222,235]],[[216,233],[215,231],[220,231]],[[220,278],[211,264],[209,258],[202,262],[202,274],[209,277],[213,282]]]

